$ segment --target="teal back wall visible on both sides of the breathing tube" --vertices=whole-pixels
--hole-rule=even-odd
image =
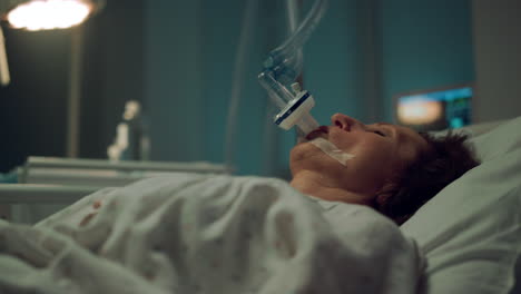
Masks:
[[[269,122],[275,109],[256,79],[268,51],[286,37],[286,12],[283,1],[258,2],[232,159],[237,174],[287,178],[295,137]],[[304,2],[307,8],[311,1]],[[144,92],[153,159],[226,160],[228,102],[246,3],[146,2]],[[312,112],[321,124],[330,124],[337,111],[391,120],[396,92],[473,80],[470,1],[331,0],[304,60],[305,88],[315,96]],[[366,98],[371,92],[374,97]]]

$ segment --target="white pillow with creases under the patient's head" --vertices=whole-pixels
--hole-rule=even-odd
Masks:
[[[469,143],[482,164],[402,225],[426,256],[423,293],[509,293],[515,283],[521,252],[521,117]]]

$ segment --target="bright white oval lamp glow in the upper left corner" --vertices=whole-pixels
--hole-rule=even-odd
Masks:
[[[91,6],[79,0],[33,0],[14,8],[8,21],[17,29],[65,29],[81,23]]]

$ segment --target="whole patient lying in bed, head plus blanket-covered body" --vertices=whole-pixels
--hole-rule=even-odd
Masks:
[[[340,114],[307,139],[291,154],[294,188],[399,224],[478,164],[464,137]],[[414,239],[373,209],[317,209],[294,188],[176,174],[99,190],[33,227],[0,220],[0,293],[417,292]]]

